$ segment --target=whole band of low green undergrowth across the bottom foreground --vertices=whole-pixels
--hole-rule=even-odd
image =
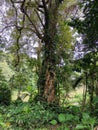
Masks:
[[[0,128],[3,130],[93,130],[97,118],[79,107],[69,109],[45,107],[38,103],[18,103],[0,107]],[[54,129],[55,130],[55,129]]]

